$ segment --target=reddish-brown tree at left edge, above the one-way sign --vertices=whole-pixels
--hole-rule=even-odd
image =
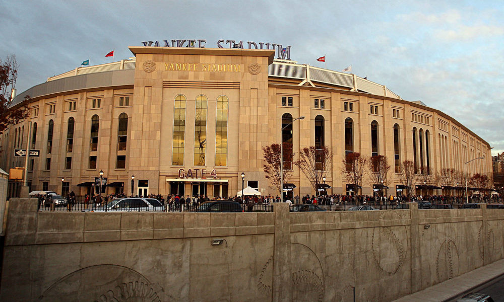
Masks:
[[[18,123],[30,115],[25,97],[20,105],[12,106],[14,99],[12,91],[16,88],[18,78],[18,63],[16,57],[10,55],[5,61],[0,59],[0,134],[11,124]]]

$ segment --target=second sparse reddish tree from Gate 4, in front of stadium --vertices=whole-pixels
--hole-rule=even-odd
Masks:
[[[299,159],[294,162],[294,165],[303,172],[317,194],[322,178],[330,170],[332,162],[333,154],[326,146],[309,146],[301,149]]]

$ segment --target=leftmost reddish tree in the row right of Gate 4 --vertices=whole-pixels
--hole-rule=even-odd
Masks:
[[[270,183],[277,188],[282,196],[282,181],[280,176],[280,163],[281,159],[281,146],[278,143],[271,144],[269,146],[263,147],[263,157],[266,165],[263,165],[263,171],[266,173],[266,178],[269,179]],[[283,169],[283,182],[288,182],[292,170],[285,170],[285,167],[291,167],[292,164],[292,144],[284,142],[284,169]]]

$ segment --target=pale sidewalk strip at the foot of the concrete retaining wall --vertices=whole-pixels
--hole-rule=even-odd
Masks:
[[[504,259],[477,268],[445,282],[409,294],[393,302],[443,302],[504,274]]]

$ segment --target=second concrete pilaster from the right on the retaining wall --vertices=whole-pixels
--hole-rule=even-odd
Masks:
[[[421,289],[421,259],[420,259],[420,229],[418,217],[418,203],[408,202],[411,217],[411,292],[417,292]]]

